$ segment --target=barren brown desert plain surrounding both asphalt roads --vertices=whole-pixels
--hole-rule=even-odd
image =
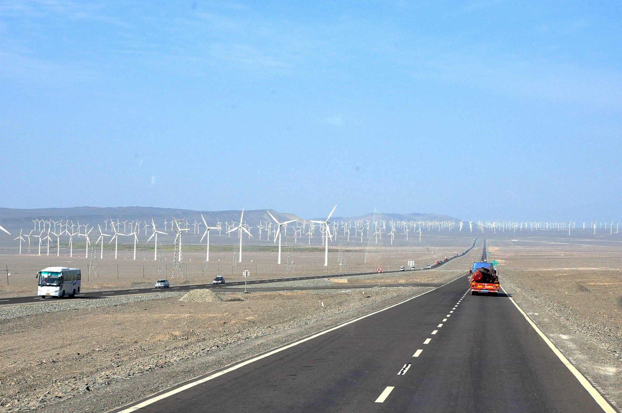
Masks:
[[[613,404],[620,406],[622,245],[615,239],[605,242],[579,236],[564,238],[560,234],[527,235],[517,237],[516,241],[503,234],[486,237],[489,261],[499,262],[501,285],[569,360]],[[439,246],[434,251],[383,246],[379,259],[383,266],[397,269],[413,254],[420,265],[443,254],[462,253],[472,240],[465,238],[455,246]],[[479,261],[482,247],[483,239],[480,239],[465,257],[448,262],[439,271],[386,274],[381,287],[371,286],[377,282],[375,277],[358,276],[343,277],[347,282],[342,283],[313,280],[271,284],[271,287],[343,284],[343,289],[338,290],[258,290],[251,294],[193,290],[187,295],[162,292],[2,306],[0,411],[108,411],[433,288],[392,284],[451,281],[468,272],[473,261]],[[373,254],[368,252],[372,256],[368,256],[371,262],[367,264],[362,262],[363,254],[364,251],[346,253],[346,261],[351,263],[348,272],[353,268],[356,272],[373,271],[375,249]],[[197,267],[189,265],[188,278],[174,282],[197,283],[215,275],[210,268],[203,278],[200,253],[188,253],[187,257],[188,264],[192,258]],[[152,261],[152,254],[151,261],[148,253],[141,253],[136,261],[129,258],[125,251],[124,258],[116,262],[100,260],[101,275],[85,286],[111,289],[150,283],[157,278],[157,261]],[[284,271],[261,272],[266,265],[270,270],[275,258],[274,253],[251,252],[244,260],[247,266],[251,259],[257,264],[257,274],[251,266],[253,277],[282,277]],[[295,262],[299,266],[305,264],[304,275],[312,275],[322,273],[321,268],[314,266],[322,258],[319,252],[297,253]],[[9,282],[14,284],[4,290],[5,295],[32,290],[32,274],[40,267],[59,262],[44,261],[49,259],[1,256],[0,260],[14,267],[18,262],[27,262],[19,271],[22,274],[11,276]],[[231,271],[231,253],[214,253],[214,262],[218,259],[227,262]],[[337,253],[331,253],[330,262],[336,261]],[[124,270],[118,281],[117,262]],[[84,267],[88,261],[81,258],[73,261],[72,266],[74,263]],[[145,281],[142,265],[146,267]],[[243,267],[234,269],[243,271]],[[232,279],[237,281],[241,277]],[[369,288],[348,288],[353,285]],[[490,299],[506,298],[499,295]]]

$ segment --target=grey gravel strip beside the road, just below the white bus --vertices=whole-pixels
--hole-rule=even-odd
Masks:
[[[29,317],[31,315],[43,313],[88,309],[93,307],[114,307],[115,305],[147,300],[162,300],[170,297],[179,297],[180,295],[183,295],[183,292],[154,292],[150,294],[119,295],[118,297],[103,297],[98,299],[67,299],[42,304],[17,304],[0,307],[0,320],[11,320],[12,318]]]

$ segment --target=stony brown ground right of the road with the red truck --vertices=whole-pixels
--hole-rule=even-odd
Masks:
[[[620,271],[501,273],[501,285],[562,353],[622,411]]]

